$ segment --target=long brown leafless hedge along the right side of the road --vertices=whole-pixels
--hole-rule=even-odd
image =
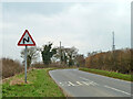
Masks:
[[[89,53],[85,58],[85,67],[122,74],[132,74],[132,56],[133,51],[130,48],[115,50],[113,52],[93,52]]]

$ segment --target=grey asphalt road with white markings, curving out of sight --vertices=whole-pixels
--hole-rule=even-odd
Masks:
[[[79,69],[50,70],[53,80],[71,97],[131,97],[131,82]]]

